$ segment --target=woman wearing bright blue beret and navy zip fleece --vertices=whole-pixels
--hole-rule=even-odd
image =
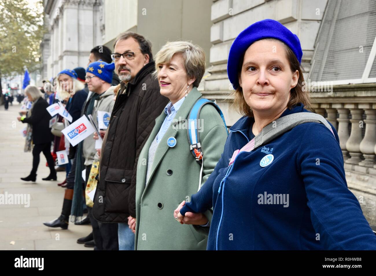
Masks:
[[[335,128],[311,108],[296,35],[256,22],[230,49],[227,73],[243,117],[205,185],[174,211],[213,208],[208,250],[376,250],[347,189]]]

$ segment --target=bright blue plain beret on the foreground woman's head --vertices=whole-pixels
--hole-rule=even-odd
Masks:
[[[238,68],[241,57],[253,42],[264,38],[275,38],[284,42],[293,51],[297,60],[302,62],[302,47],[296,35],[278,21],[271,19],[258,21],[241,32],[231,45],[227,75],[234,89],[239,87]]]

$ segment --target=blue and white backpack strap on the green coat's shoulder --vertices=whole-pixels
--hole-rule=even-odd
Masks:
[[[226,128],[226,131],[227,131],[226,121],[224,120],[223,113],[221,109],[217,106],[217,104],[205,98],[200,98],[199,100],[197,100],[188,116],[187,136],[188,136],[188,142],[190,143],[190,151],[193,154],[193,156],[196,158],[196,161],[198,163],[202,163],[202,154],[203,154],[201,152],[201,143],[200,143],[199,117],[200,117],[200,111],[202,107],[205,106],[206,104],[210,104],[215,107],[215,109],[221,116],[224,127]]]

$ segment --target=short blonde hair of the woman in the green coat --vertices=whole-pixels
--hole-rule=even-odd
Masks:
[[[158,66],[171,61],[174,54],[182,54],[185,71],[189,78],[196,78],[193,87],[198,87],[205,73],[205,52],[199,45],[189,41],[167,42],[155,55],[155,72],[158,75]]]

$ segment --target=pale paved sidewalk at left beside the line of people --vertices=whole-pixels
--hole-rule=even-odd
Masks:
[[[8,194],[7,204],[0,201],[0,250],[93,250],[76,242],[91,232],[91,225],[70,222],[63,230],[42,224],[61,214],[65,189],[57,183],[64,181],[65,172],[58,172],[58,181],[43,181],[49,168],[41,153],[36,182],[20,179],[29,175],[33,158],[31,152],[24,152],[21,131],[26,124],[17,120],[20,107],[17,101],[8,110],[0,106],[0,197]],[[9,200],[16,194],[26,195],[23,204]]]

